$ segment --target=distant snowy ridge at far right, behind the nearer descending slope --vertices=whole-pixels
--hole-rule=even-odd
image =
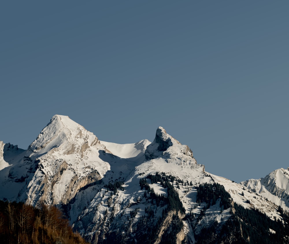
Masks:
[[[242,181],[241,184],[289,211],[289,168],[277,169],[264,178]]]

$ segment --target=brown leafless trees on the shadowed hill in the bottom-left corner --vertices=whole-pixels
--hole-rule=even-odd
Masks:
[[[56,207],[36,209],[24,203],[0,201],[1,243],[86,243]]]

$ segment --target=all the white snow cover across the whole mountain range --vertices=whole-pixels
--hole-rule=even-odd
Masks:
[[[158,151],[161,140],[165,140],[165,151]],[[9,150],[4,149],[8,146]],[[149,149],[147,155],[153,155],[150,160],[146,160],[146,149]],[[205,167],[197,164],[192,156],[186,145],[168,135],[162,127],[157,129],[152,143],[141,140],[117,144],[99,141],[92,132],[69,117],[55,115],[27,150],[0,142],[0,198],[26,200],[28,204],[37,205],[41,198],[47,204],[66,204],[74,197],[70,204],[71,224],[88,235],[92,235],[96,226],[105,221],[105,213],[118,216],[118,220],[112,222],[115,229],[127,224],[130,211],[136,208],[139,209],[133,222],[145,214],[146,207],[157,211],[157,216],[161,215],[162,208],[151,205],[144,197],[145,190],[139,185],[141,178],[155,172],[165,172],[184,181],[184,185],[177,187],[174,182],[173,186],[186,213],[199,214],[205,206],[205,203],[197,204],[195,188],[205,182],[223,185],[235,203],[260,209],[272,219],[281,219],[278,205],[289,210],[286,199],[289,196],[286,195],[289,194],[288,169],[275,170],[265,178],[238,184],[205,172]],[[34,164],[35,169],[32,167]],[[26,177],[26,180],[16,182],[21,177]],[[115,181],[122,182],[124,188],[117,189],[116,195],[105,187],[105,184]],[[192,185],[186,184],[187,181]],[[167,189],[160,182],[150,184],[150,187],[155,193],[167,196]],[[207,209],[196,232],[214,221],[225,222],[231,216],[230,209],[221,213],[219,201]],[[194,242],[188,220],[184,221],[184,226]],[[273,233],[274,230],[270,231]]]

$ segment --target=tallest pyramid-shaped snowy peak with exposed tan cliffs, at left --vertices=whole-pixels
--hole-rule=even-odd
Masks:
[[[99,154],[110,152],[95,135],[67,116],[53,116],[23,153],[6,177],[13,177],[14,185],[22,183],[12,199],[34,206],[42,202],[67,204],[79,189],[97,183],[110,169],[99,158]]]

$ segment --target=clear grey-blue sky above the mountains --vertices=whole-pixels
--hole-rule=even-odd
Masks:
[[[158,126],[236,182],[288,163],[288,1],[1,1],[0,140],[55,114],[100,140]]]

